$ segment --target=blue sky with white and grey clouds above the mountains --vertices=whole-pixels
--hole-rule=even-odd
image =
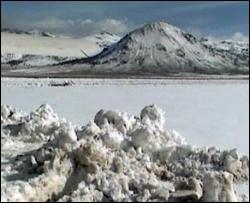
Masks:
[[[105,30],[123,36],[156,21],[199,36],[248,40],[249,2],[1,1],[1,29],[37,29],[74,37]]]

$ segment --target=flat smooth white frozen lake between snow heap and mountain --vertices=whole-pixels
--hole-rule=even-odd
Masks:
[[[248,81],[78,79],[68,87],[37,81],[2,79],[1,103],[27,112],[48,103],[78,125],[101,108],[139,115],[145,105],[156,104],[166,112],[166,128],[180,132],[188,143],[249,153]]]

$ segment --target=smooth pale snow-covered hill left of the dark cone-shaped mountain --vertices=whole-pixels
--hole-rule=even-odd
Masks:
[[[120,37],[102,32],[84,38],[55,36],[47,32],[1,30],[1,63],[44,66],[93,56]]]

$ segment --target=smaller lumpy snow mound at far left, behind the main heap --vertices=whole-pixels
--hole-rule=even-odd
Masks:
[[[60,128],[65,128],[65,126],[72,128],[70,123],[67,123],[64,118],[59,118],[46,104],[41,105],[29,115],[21,114],[9,106],[2,106],[1,111],[2,131],[5,136],[46,141],[60,134]]]

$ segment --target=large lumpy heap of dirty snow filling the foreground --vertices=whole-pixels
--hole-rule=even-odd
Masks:
[[[12,119],[9,127],[2,108],[1,127],[19,125],[20,118]],[[248,158],[187,145],[164,130],[164,118],[156,105],[140,117],[103,109],[77,127],[42,105],[26,116],[25,132],[1,131],[2,150],[27,136],[32,139],[23,143],[37,137],[43,143],[13,157],[11,171],[2,170],[2,201],[242,201],[233,187],[248,181]]]

